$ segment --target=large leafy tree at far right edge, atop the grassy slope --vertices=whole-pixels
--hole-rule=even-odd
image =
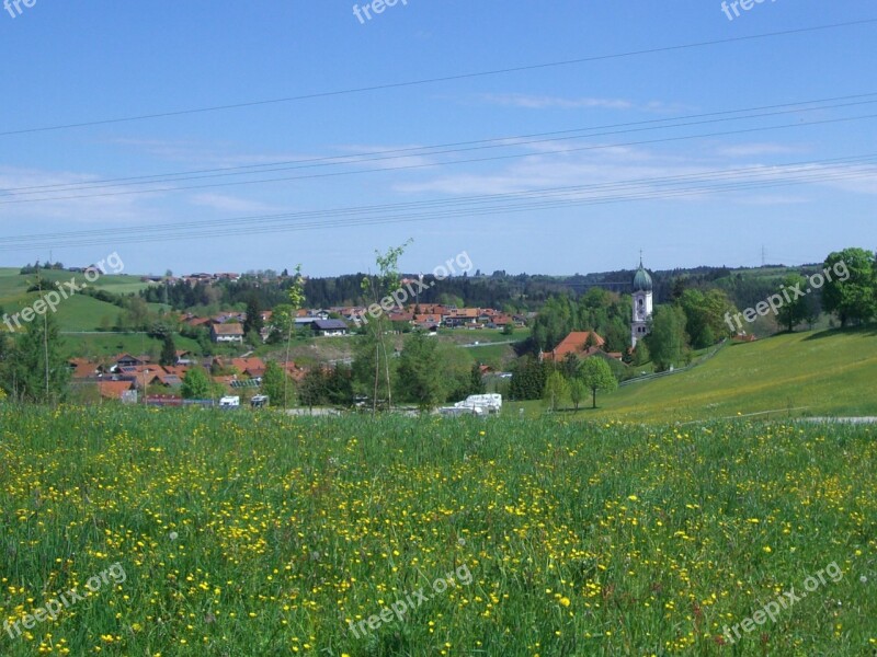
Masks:
[[[824,270],[816,276],[825,279],[822,308],[838,315],[841,326],[848,322],[867,322],[877,310],[874,289],[874,254],[864,249],[844,249],[830,253]]]

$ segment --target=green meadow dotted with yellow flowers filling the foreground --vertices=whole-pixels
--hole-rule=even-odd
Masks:
[[[0,406],[0,451],[3,656],[877,654],[868,426]]]

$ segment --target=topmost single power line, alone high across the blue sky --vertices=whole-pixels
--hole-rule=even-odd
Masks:
[[[192,114],[203,114],[207,112],[224,112],[228,110],[240,110],[246,107],[258,107],[264,105],[274,105],[281,103],[293,103],[299,101],[307,101],[307,100],[315,100],[315,99],[322,99],[322,97],[332,97],[332,96],[341,96],[341,95],[350,95],[350,94],[357,94],[357,93],[366,93],[373,91],[384,91],[388,89],[402,89],[402,88],[410,88],[410,87],[422,87],[426,84],[435,84],[438,82],[451,82],[455,80],[467,80],[472,78],[485,78],[490,76],[501,76],[506,73],[516,73],[523,71],[533,71],[533,70],[540,70],[540,69],[548,69],[548,68],[558,68],[565,66],[573,66],[578,64],[588,64],[593,61],[606,61],[611,59],[622,59],[626,57],[638,57],[641,55],[654,55],[658,53],[672,53],[675,50],[685,50],[688,48],[705,48],[710,46],[717,46],[722,44],[731,44],[731,43],[740,43],[740,42],[748,42],[748,41],[758,41],[764,38],[773,38],[777,36],[789,36],[794,34],[806,34],[812,32],[821,32],[827,30],[838,30],[842,27],[852,27],[858,25],[870,25],[877,23],[877,19],[863,19],[859,21],[848,21],[844,23],[832,23],[828,25],[817,25],[812,27],[798,27],[795,30],[783,30],[779,32],[766,32],[762,34],[754,34],[750,36],[736,36],[730,38],[720,38],[720,39],[711,39],[711,41],[704,41],[704,42],[695,42],[690,44],[682,44],[676,46],[662,46],[657,48],[646,48],[640,50],[628,50],[626,53],[615,53],[610,55],[595,55],[591,57],[580,57],[576,59],[566,59],[561,61],[550,61],[550,62],[543,62],[543,64],[534,64],[527,66],[519,66],[519,67],[511,67],[504,69],[494,69],[488,71],[478,71],[478,72],[469,72],[469,73],[458,73],[454,76],[443,76],[438,78],[426,78],[421,80],[408,80],[403,82],[388,82],[385,84],[374,84],[371,87],[358,87],[353,89],[343,89],[343,90],[335,90],[335,91],[323,91],[318,93],[310,93],[310,94],[301,94],[301,95],[294,95],[294,96],[286,96],[281,99],[270,99],[270,100],[262,100],[262,101],[251,101],[246,103],[231,103],[226,105],[214,105],[209,107],[196,107],[190,110],[178,110],[173,112],[159,112],[153,114],[140,114],[136,116],[126,116],[126,117],[118,117],[118,118],[104,118],[98,120],[88,120],[88,122],[80,122],[80,123],[68,123],[68,124],[60,124],[54,126],[42,126],[42,127],[33,127],[33,128],[22,128],[19,130],[5,130],[0,132],[0,137],[8,137],[12,135],[26,135],[33,132],[48,132],[48,131],[56,131],[56,130],[67,130],[71,128],[83,128],[90,126],[100,126],[100,125],[110,125],[110,124],[119,124],[119,123],[130,123],[137,120],[146,120],[146,119],[155,119],[155,118],[168,118],[173,116],[185,116]]]

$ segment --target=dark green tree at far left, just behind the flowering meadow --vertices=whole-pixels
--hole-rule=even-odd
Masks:
[[[67,396],[70,370],[60,354],[60,334],[48,312],[30,322],[8,357],[13,394],[21,401],[47,404]]]

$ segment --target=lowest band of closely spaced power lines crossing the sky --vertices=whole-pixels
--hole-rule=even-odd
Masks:
[[[778,174],[777,166],[747,168],[740,170],[719,170],[701,174],[639,178],[615,183],[579,185],[574,187],[556,187],[510,194],[471,196],[460,199],[437,199],[412,201],[386,206],[365,206],[334,208],[327,210],[291,212],[284,215],[266,215],[240,217],[223,220],[193,221],[187,223],[139,226],[123,228],[109,235],[106,230],[70,231],[67,233],[48,233],[3,238],[0,251],[16,251],[41,247],[46,243],[53,246],[87,246],[103,243],[141,243],[163,242],[170,240],[196,239],[215,234],[217,226],[224,226],[224,234],[255,234],[267,232],[287,232],[299,230],[341,228],[352,226],[374,226],[383,223],[407,223],[430,219],[447,219],[449,217],[472,217],[496,215],[501,212],[532,211],[568,206],[600,205],[634,200],[673,198],[679,196],[703,195],[713,192],[738,192],[752,188],[775,188],[793,184],[822,183],[828,181],[874,177],[874,169],[864,171],[841,170],[825,173],[819,165],[864,165],[874,163],[877,153],[856,155],[844,159],[817,160],[785,165],[789,173],[802,174],[788,176],[785,180],[739,180],[752,174]],[[794,171],[795,169],[799,171]],[[718,177],[720,176],[720,177]],[[729,183],[730,181],[730,183]],[[688,186],[673,188],[674,184]],[[652,187],[669,187],[654,189]],[[615,193],[606,196],[582,198],[582,193]],[[572,196],[571,198],[565,198]],[[356,215],[377,215],[357,217]],[[348,216],[348,217],[345,217]],[[328,218],[323,220],[322,218]],[[291,224],[292,223],[292,224]],[[59,238],[61,240],[59,241]],[[66,239],[64,239],[66,238]]]

